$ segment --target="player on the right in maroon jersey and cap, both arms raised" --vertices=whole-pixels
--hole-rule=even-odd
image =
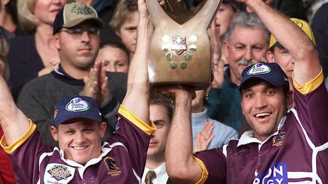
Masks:
[[[325,183],[328,162],[328,93],[316,49],[293,22],[261,0],[243,0],[295,59],[293,91],[277,63],[259,62],[242,72],[243,115],[253,130],[222,149],[191,152],[186,88],[170,89],[176,105],[167,146],[169,176],[185,183]],[[182,141],[175,141],[175,140]],[[179,151],[178,151],[179,149]],[[177,167],[179,165],[179,167]]]

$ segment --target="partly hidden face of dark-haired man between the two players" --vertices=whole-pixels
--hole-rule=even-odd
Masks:
[[[147,151],[148,157],[165,157],[165,148],[170,130],[168,110],[163,105],[151,104],[149,106],[150,120],[154,122],[156,131],[151,135]]]

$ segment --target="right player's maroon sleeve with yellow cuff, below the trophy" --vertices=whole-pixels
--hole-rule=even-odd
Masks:
[[[196,152],[194,158],[203,169],[202,177],[196,184],[226,183],[227,159],[221,148]]]

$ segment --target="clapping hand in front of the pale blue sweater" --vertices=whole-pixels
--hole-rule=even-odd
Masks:
[[[203,130],[201,132],[197,132],[195,144],[193,146],[193,151],[192,151],[193,153],[196,153],[197,151],[203,151],[208,148],[209,143],[215,137],[212,134],[213,129],[214,129],[213,122],[206,122]]]

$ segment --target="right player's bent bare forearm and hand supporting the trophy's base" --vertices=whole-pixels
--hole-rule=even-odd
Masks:
[[[175,94],[175,110],[165,154],[167,172],[179,183],[196,183],[203,169],[192,154],[191,100],[194,92],[180,86],[168,91]]]

